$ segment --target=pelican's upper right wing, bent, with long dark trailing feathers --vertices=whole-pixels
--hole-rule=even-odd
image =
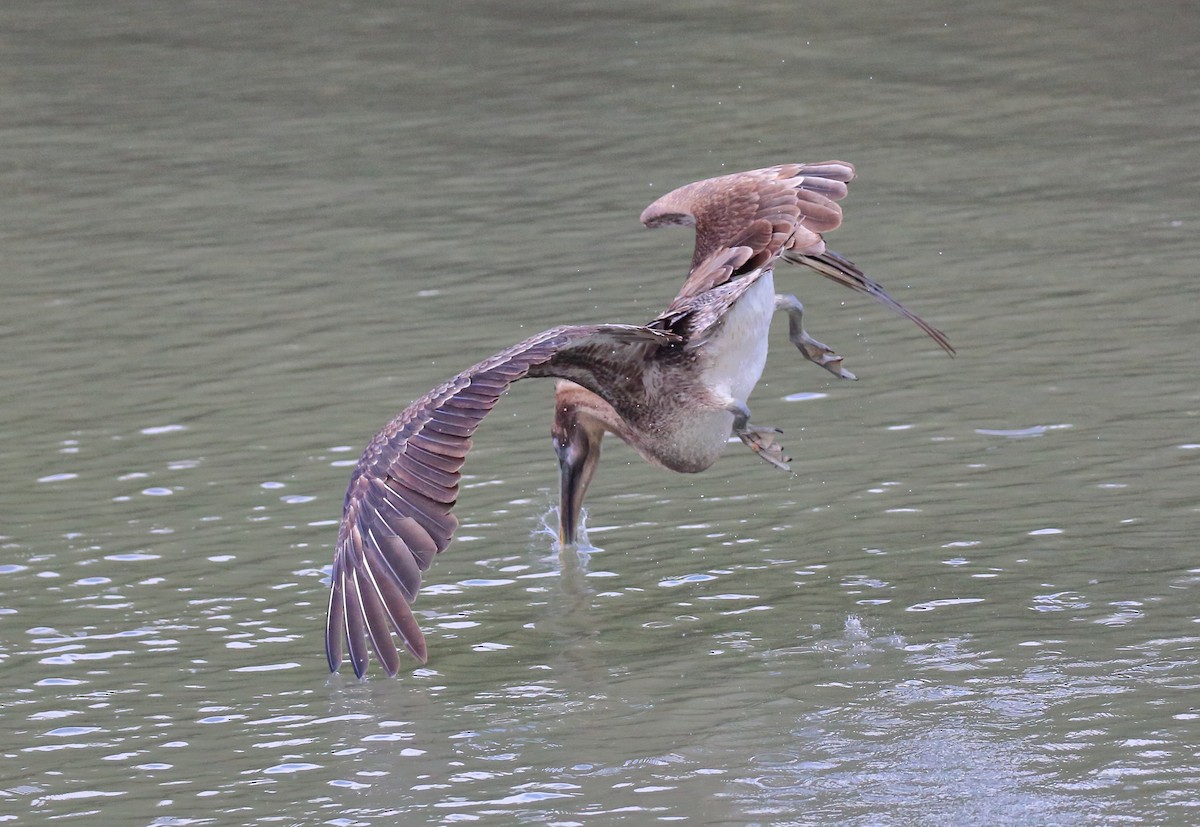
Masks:
[[[841,224],[836,202],[853,178],[854,167],[842,161],[782,164],[688,184],[647,206],[642,212],[647,227],[696,227],[691,271],[660,317],[666,326],[695,306],[695,296],[734,278],[754,278],[782,257],[912,319],[954,355],[941,330],[893,299],[853,262],[826,250],[821,234]]]

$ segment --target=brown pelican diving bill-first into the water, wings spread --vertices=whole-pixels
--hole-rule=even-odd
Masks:
[[[576,539],[578,515],[606,432],[649,462],[679,472],[708,468],[737,436],[767,462],[787,468],[779,431],[751,425],[746,398],[767,359],[776,310],[791,341],[835,376],[854,378],[841,356],[804,330],[803,306],[776,295],[775,263],[804,264],[926,324],[851,262],[826,250],[822,233],[841,223],[838,199],[854,168],[841,161],[784,164],[722,175],[668,192],[642,212],[647,227],[696,228],[683,288],[646,325],[552,328],[485,359],[434,388],[389,423],[350,475],[337,533],[325,627],[329,667],[342,642],[359,677],[367,639],[388,675],[400,669],[395,630],[426,660],[410,604],[421,573],[450,545],[460,472],[472,435],[517,379],[557,377],[552,436],[560,477],[559,534]]]

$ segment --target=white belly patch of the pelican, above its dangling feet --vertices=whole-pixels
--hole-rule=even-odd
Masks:
[[[775,312],[775,280],[767,272],[725,314],[708,346],[704,384],[745,404],[767,364],[767,332]]]

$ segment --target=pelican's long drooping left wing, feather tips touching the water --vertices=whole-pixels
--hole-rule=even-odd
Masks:
[[[346,641],[354,672],[362,677],[370,637],[388,675],[396,675],[392,629],[425,661],[425,637],[410,603],[421,571],[450,545],[458,526],[452,509],[472,435],[511,383],[560,376],[595,390],[595,373],[674,341],[635,325],[553,328],[463,371],[391,420],[362,453],[346,491],[325,623],[330,670],[341,666]]]

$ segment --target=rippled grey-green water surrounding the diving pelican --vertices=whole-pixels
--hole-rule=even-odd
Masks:
[[[0,821],[1200,821],[1200,13],[911,2],[0,5]],[[349,465],[560,322],[642,206],[854,162],[734,447],[611,447],[560,557],[547,383],[416,609],[326,676]]]

